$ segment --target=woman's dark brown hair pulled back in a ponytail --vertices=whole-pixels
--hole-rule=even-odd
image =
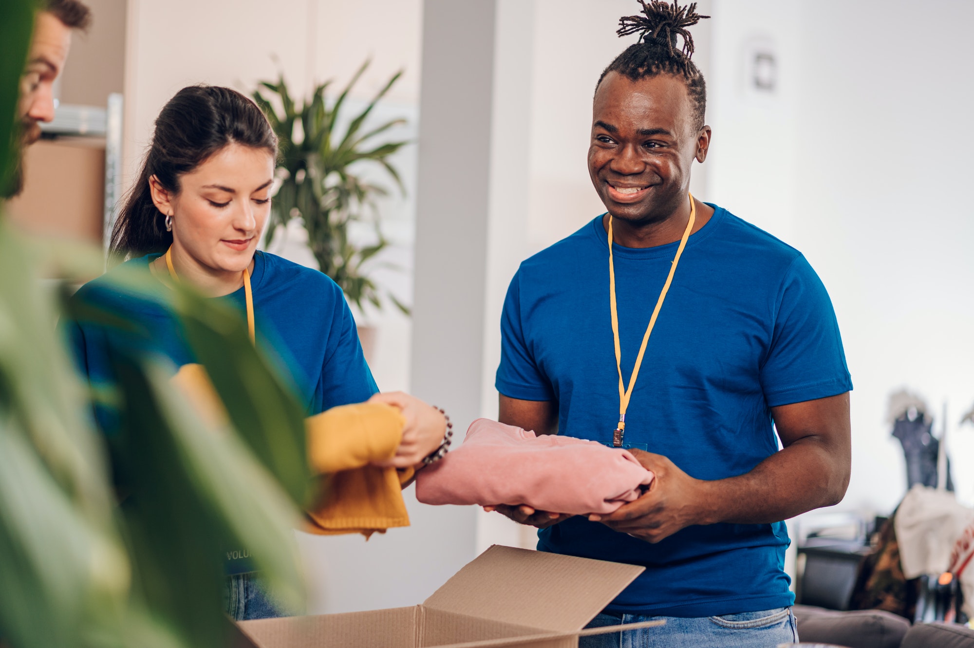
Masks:
[[[237,90],[190,86],[175,93],[156,118],[152,143],[112,230],[116,258],[165,252],[172,244],[166,217],[152,201],[149,178],[170,194],[179,177],[192,172],[230,144],[264,149],[278,156],[278,136],[264,113]]]

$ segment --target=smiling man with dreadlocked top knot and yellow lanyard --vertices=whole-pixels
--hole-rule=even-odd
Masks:
[[[609,516],[489,508],[542,528],[542,551],[646,566],[592,625],[666,625],[584,646],[775,646],[797,634],[781,521],[843,498],[852,385],[805,257],[689,193],[711,130],[687,27],[706,17],[640,4],[593,102],[608,213],[521,264],[497,388],[502,422],[632,449],[656,479]]]

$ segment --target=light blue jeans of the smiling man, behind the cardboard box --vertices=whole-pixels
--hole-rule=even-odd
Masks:
[[[775,648],[798,641],[791,608],[682,619],[602,613],[588,628],[606,628],[662,619],[665,626],[597,636],[583,636],[579,648]]]

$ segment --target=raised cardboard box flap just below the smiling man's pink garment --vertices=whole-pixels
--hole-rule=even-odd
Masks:
[[[643,569],[494,545],[424,604],[517,626],[575,631],[594,619]]]

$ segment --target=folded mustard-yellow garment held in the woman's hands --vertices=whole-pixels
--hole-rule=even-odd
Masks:
[[[215,427],[228,421],[223,404],[202,365],[183,365],[173,384],[204,419]],[[332,408],[305,419],[308,462],[318,473],[318,497],[307,511],[303,530],[319,535],[385,533],[409,526],[402,487],[413,478],[411,468],[396,470],[370,465],[392,458],[405,419],[385,403],[358,403]]]

